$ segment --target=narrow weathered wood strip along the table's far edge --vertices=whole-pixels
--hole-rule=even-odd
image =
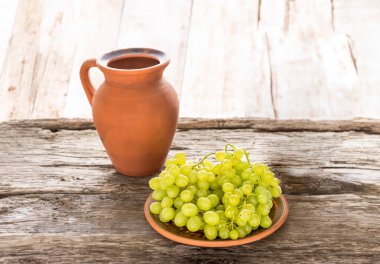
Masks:
[[[18,127],[35,127],[50,129],[57,132],[62,129],[86,130],[95,129],[90,119],[32,119],[12,120],[3,125]],[[0,123],[1,125],[1,123]],[[233,119],[206,119],[206,118],[180,118],[178,129],[246,129],[270,132],[346,132],[356,131],[368,134],[380,134],[379,120],[337,120],[337,121],[311,121],[311,120],[273,120],[253,118]]]

